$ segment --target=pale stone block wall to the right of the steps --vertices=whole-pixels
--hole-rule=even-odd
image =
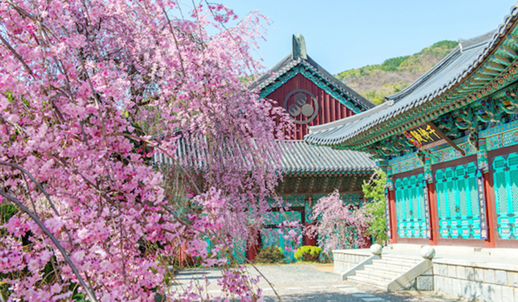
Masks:
[[[437,292],[470,300],[518,301],[518,272],[506,267],[434,261],[433,274]]]

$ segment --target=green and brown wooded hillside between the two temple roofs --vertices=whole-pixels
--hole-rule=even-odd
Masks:
[[[394,57],[382,64],[345,70],[336,77],[374,104],[381,104],[385,102],[385,96],[393,95],[414,82],[457,45],[455,41],[439,41],[414,55]]]

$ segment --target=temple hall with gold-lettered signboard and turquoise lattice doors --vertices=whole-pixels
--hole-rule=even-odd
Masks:
[[[309,127],[310,144],[370,153],[387,172],[391,243],[518,247],[517,15],[385,103]]]

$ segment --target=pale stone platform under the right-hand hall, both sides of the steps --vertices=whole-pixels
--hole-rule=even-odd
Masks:
[[[420,258],[423,245],[394,244],[383,249],[386,256]],[[518,301],[518,249],[434,246],[432,272],[403,287],[434,290],[479,301]],[[346,272],[372,256],[369,249],[333,251],[334,270]],[[427,282],[420,282],[420,279]],[[432,284],[430,284],[432,283]],[[426,288],[419,288],[426,284]]]

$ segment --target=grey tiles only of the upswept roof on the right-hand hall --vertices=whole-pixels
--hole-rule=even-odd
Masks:
[[[387,102],[343,120],[310,126],[310,133],[305,136],[305,141],[326,146],[343,144],[369,131],[373,126],[383,124],[412,108],[437,99],[481,67],[499,45],[499,41],[515,25],[517,15],[518,8],[513,6],[511,14],[506,16],[504,23],[497,30],[461,41],[461,47],[457,46],[441,62],[403,91],[387,97]],[[385,131],[390,131],[390,127]]]

